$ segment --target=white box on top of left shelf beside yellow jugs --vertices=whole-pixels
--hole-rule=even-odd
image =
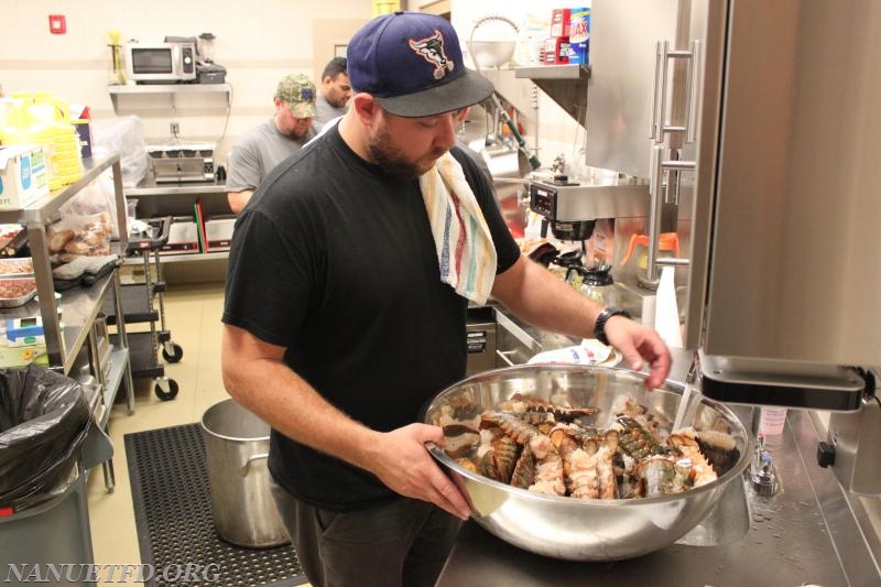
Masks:
[[[41,145],[0,146],[0,210],[19,210],[48,194]]]

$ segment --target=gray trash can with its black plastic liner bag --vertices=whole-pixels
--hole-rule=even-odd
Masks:
[[[34,365],[0,369],[4,581],[95,585],[76,573],[94,563],[85,471],[111,456],[76,380]]]

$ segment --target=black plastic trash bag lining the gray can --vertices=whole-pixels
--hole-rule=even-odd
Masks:
[[[28,508],[68,480],[90,421],[78,381],[35,365],[0,369],[0,507]]]

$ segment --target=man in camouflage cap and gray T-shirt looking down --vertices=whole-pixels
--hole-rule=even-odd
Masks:
[[[275,90],[275,115],[242,134],[227,170],[227,199],[239,214],[260,181],[317,133],[315,85],[305,75],[286,75]]]

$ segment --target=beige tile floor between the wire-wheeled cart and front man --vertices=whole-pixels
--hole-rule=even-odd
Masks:
[[[198,422],[205,410],[228,398],[220,377],[222,301],[222,283],[168,286],[166,326],[172,340],[183,347],[184,356],[178,363],[167,363],[165,373],[177,381],[180,391],[176,399],[162,402],[153,393],[152,380],[135,380],[134,414],[128,414],[121,396],[113,406],[110,437],[115,448],[116,490],[106,491],[100,467],[93,469],[88,483],[96,564],[141,562],[123,435]]]

